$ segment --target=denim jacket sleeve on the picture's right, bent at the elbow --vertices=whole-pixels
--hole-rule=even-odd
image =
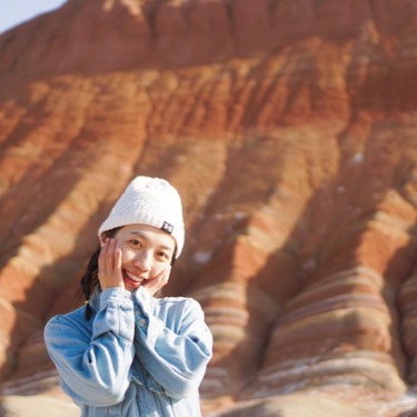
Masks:
[[[191,298],[176,302],[168,315],[178,315],[180,321],[168,328],[152,315],[148,291],[139,288],[136,294],[135,337],[140,361],[170,397],[196,395],[212,355],[212,335],[200,305]]]

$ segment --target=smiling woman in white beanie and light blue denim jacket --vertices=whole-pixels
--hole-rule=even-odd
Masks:
[[[212,336],[191,298],[153,297],[182,250],[182,206],[166,180],[135,178],[99,229],[82,277],[86,306],[44,338],[81,416],[201,416]]]

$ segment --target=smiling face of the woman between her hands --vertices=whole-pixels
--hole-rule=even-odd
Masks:
[[[155,278],[172,262],[173,238],[153,226],[125,226],[115,238],[121,249],[121,271],[128,291],[136,291],[143,280]]]

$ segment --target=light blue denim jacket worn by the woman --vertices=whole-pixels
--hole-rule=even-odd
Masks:
[[[44,329],[61,387],[81,416],[201,416],[198,388],[212,336],[200,305],[143,288],[96,290],[90,305],[90,320],[81,307]]]

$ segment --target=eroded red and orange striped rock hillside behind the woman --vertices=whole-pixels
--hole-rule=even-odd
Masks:
[[[407,0],[69,0],[2,34],[3,415],[78,415],[42,329],[136,175],[183,199],[206,416],[413,413],[416,75]]]

